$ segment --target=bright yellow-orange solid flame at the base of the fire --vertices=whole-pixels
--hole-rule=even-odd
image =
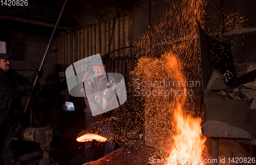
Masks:
[[[206,139],[202,138],[201,119],[184,115],[183,108],[182,104],[178,103],[175,109],[174,124],[176,125],[176,135],[173,136],[174,148],[169,158],[181,158],[184,161],[180,164],[203,164],[201,155]],[[190,162],[185,161],[189,159]]]

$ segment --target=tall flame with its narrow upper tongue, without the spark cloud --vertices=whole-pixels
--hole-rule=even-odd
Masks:
[[[179,65],[176,57],[168,53],[166,54],[166,60],[176,79],[184,81],[185,77],[181,72],[182,65]],[[180,88],[186,91],[186,86]],[[206,139],[201,133],[201,118],[193,118],[186,114],[186,98],[185,95],[174,98],[176,106],[173,111],[172,125],[176,134],[172,137],[174,146],[170,152],[169,160],[176,161],[169,161],[168,164],[203,164],[201,155]]]

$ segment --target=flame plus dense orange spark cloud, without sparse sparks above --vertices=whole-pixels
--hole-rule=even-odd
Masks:
[[[182,61],[177,54],[169,51],[159,58],[140,58],[133,76],[136,79],[135,85],[137,87],[141,85],[139,86],[141,91],[148,91],[147,95],[141,95],[145,100],[146,108],[146,137],[154,147],[160,150],[152,157],[165,156],[165,153],[168,153],[169,159],[165,161],[167,164],[201,165],[206,140],[200,126],[202,115],[200,112],[191,112],[188,108],[191,103],[196,102],[195,98],[198,95],[188,96],[188,90],[191,90],[191,87],[186,84],[188,74],[185,76],[184,66],[184,60]],[[159,84],[151,85],[148,82],[159,82]],[[150,91],[156,90],[160,92],[159,95],[158,93],[150,95]],[[196,116],[199,117],[194,118],[192,114],[197,114]],[[161,151],[164,153],[162,154]],[[187,162],[186,159],[190,161]]]

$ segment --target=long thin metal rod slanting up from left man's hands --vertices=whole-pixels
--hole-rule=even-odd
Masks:
[[[49,41],[49,43],[48,43],[48,45],[47,45],[47,48],[46,48],[46,52],[45,52],[44,59],[42,59],[42,62],[41,62],[41,65],[40,65],[39,71],[41,71],[41,70],[42,70],[42,66],[43,66],[43,65],[44,65],[44,63],[45,63],[46,56],[47,56],[47,53],[48,53],[48,51],[49,51],[49,47],[51,46],[53,36],[54,36],[54,34],[55,34],[55,31],[56,31],[57,26],[58,26],[58,24],[59,24],[59,20],[60,20],[60,18],[61,18],[61,15],[62,15],[62,13],[63,13],[64,9],[65,9],[65,6],[66,6],[67,2],[68,2],[68,0],[65,0],[64,4],[63,4],[63,6],[62,6],[62,9],[61,9],[61,11],[60,11],[60,14],[59,14],[58,20],[57,20],[57,22],[56,22],[56,24],[55,24],[55,27],[54,27],[54,30],[53,30],[53,32],[52,32],[52,36],[51,36],[50,41]],[[36,75],[36,78],[35,78],[35,81],[34,81],[34,86],[36,85],[37,80],[38,80],[38,76]],[[31,97],[32,97],[32,93],[33,93],[33,92],[31,92],[31,93],[30,93],[30,96],[29,96],[28,102],[27,102],[26,107],[25,107],[25,109],[24,109],[24,113],[26,113],[26,112],[27,112],[28,105],[29,105],[29,102],[30,102]]]

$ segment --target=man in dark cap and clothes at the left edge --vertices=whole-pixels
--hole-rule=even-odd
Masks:
[[[11,69],[10,56],[0,53],[0,139],[4,164],[20,164],[11,150],[14,131],[14,111],[22,109],[22,95],[34,90],[32,84],[36,74],[24,77]],[[21,85],[28,85],[22,86]]]

